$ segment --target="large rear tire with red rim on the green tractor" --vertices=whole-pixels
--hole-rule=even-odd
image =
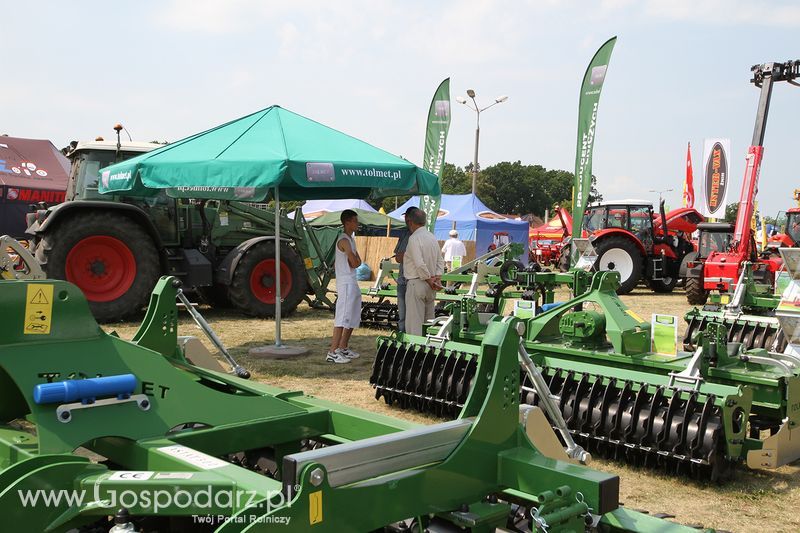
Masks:
[[[130,262],[122,263],[124,272],[129,273],[129,266],[135,264],[130,285],[120,282],[106,293],[103,293],[102,286],[93,285],[89,277],[94,276],[98,283],[103,283],[103,277],[111,275],[110,269],[114,268],[113,265],[102,259],[94,259],[84,270],[80,259],[87,257],[82,252],[87,250],[87,239],[103,237],[116,239],[120,244],[115,245],[130,251]],[[73,251],[77,255],[71,256],[70,252]],[[91,255],[90,253],[89,256]],[[147,305],[150,293],[161,275],[158,250],[147,231],[130,218],[108,211],[84,212],[60,220],[41,236],[36,247],[36,259],[48,278],[75,283],[83,291],[92,314],[99,322],[119,321],[140,312]],[[102,270],[102,273],[96,275],[95,269]],[[89,274],[88,271],[92,273]],[[108,297],[103,294],[117,292],[122,294],[102,301]]]

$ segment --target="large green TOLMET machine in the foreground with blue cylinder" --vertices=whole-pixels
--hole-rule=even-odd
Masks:
[[[456,419],[421,426],[193,364],[180,291],[162,277],[125,341],[72,284],[0,281],[0,511],[15,528],[687,530],[620,507],[617,476],[532,444],[555,436],[519,403],[516,318],[469,345]]]

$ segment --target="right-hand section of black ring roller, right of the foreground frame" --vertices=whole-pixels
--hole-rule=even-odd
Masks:
[[[593,454],[716,481],[730,462],[716,397],[545,369],[575,441]],[[522,376],[521,402],[538,398]]]

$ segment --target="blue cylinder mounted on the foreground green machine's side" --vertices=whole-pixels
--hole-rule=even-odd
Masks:
[[[48,403],[93,402],[96,398],[127,398],[136,390],[136,376],[121,374],[102,378],[68,379],[41,383],[33,388],[33,401]]]

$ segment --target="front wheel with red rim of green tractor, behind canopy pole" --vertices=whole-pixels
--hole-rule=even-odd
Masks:
[[[260,242],[250,249],[248,249],[244,257],[239,260],[236,265],[236,270],[233,272],[231,284],[228,287],[228,299],[234,307],[240,309],[245,314],[257,317],[273,318],[275,316],[275,302],[274,302],[274,289],[273,296],[270,298],[263,292],[267,291],[272,281],[274,287],[274,279],[265,275],[255,277],[252,283],[260,283],[259,285],[251,285],[251,277],[254,276],[254,271],[258,268],[265,268],[261,265],[264,261],[275,261],[275,244],[272,241]],[[281,269],[281,285],[286,285],[287,281],[284,277],[284,272],[288,270],[290,279],[288,281],[288,292],[283,298],[281,304],[281,316],[291,314],[306,294],[306,286],[308,279],[306,277],[306,269],[303,265],[302,259],[297,255],[297,252],[286,243],[281,243],[281,264],[284,269]],[[259,266],[261,265],[261,266]],[[274,275],[274,267],[273,267]],[[260,287],[260,288],[259,288]],[[256,294],[256,291],[260,292]]]

